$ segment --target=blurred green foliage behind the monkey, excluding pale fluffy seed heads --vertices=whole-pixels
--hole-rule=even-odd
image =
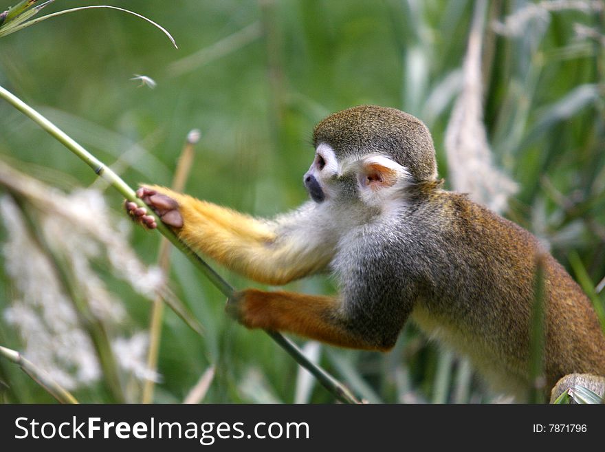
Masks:
[[[0,11],[13,3],[0,0]],[[98,3],[57,0],[39,14]],[[439,173],[448,180],[443,139],[462,85],[474,2],[104,3],[156,21],[179,49],[135,17],[115,10],[76,12],[1,38],[0,85],[103,162],[118,161],[116,169],[131,186],[169,185],[188,131],[198,128],[202,135],[186,191],[254,215],[275,215],[307,198],[301,180],[314,155],[316,122],[364,103],[424,120]],[[505,215],[551,244],[572,275],[586,274],[585,290],[605,275],[605,8],[592,3],[600,8],[544,10],[519,36],[508,36],[496,33],[494,21],[506,25],[510,14],[531,2],[489,2],[482,62],[494,161],[520,187]],[[140,87],[131,80],[134,74],[153,78],[157,87]],[[95,180],[83,162],[4,101],[0,160],[65,191]],[[105,195],[116,217],[122,215],[120,195],[111,189]],[[5,235],[0,228],[0,242]],[[155,262],[159,235],[133,228],[131,243],[142,261]],[[124,329],[146,329],[149,301],[113,277],[107,263],[97,262],[96,270],[129,313]],[[238,288],[252,284],[219,271]],[[0,278],[1,311],[17,290],[8,275]],[[292,358],[263,332],[227,319],[223,296],[177,252],[170,288],[205,334],[197,336],[166,311],[156,402],[183,400],[210,366],[215,375],[204,402],[333,401],[322,387],[297,378]],[[335,290],[328,277],[287,288]],[[592,295],[603,303],[602,294]],[[19,332],[1,318],[0,343],[23,348]],[[440,352],[412,324],[389,354],[328,346],[319,353],[322,366],[371,402],[494,400],[464,361]],[[5,401],[52,400],[3,360],[0,380]],[[130,400],[137,400],[133,391]],[[100,383],[73,392],[84,402],[111,400]]]

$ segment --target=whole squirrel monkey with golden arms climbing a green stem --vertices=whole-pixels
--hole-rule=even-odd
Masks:
[[[338,278],[336,297],[237,292],[227,309],[243,325],[386,351],[411,318],[469,356],[494,389],[522,397],[541,259],[548,387],[574,372],[605,375],[605,337],[586,295],[527,230],[441,189],[423,122],[364,105],[322,120],[313,142],[303,178],[311,200],[276,219],[161,186],[137,191],[190,248],[250,279]],[[157,226],[144,208],[126,210]]]

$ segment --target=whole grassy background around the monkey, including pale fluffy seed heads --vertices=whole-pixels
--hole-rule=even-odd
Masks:
[[[16,2],[0,0],[0,11]],[[448,188],[478,186],[477,199],[542,239],[603,311],[605,2],[105,3],[159,23],[178,50],[141,19],[83,10],[1,36],[0,85],[131,186],[170,185],[188,132],[199,129],[186,191],[276,215],[307,198],[318,120],[353,105],[397,107],[432,131]],[[92,4],[57,0],[36,17]],[[269,336],[228,319],[225,297],[176,251],[168,288],[203,334],[164,310],[157,372],[149,369],[157,272],[148,267],[160,236],[134,228],[119,193],[3,100],[0,198],[0,345],[80,402],[140,401],[149,378],[155,402],[181,402],[196,384],[193,400],[203,402],[334,401]],[[236,288],[254,286],[218,271]],[[336,290],[329,277],[287,289]],[[498,396],[411,323],[388,354],[295,340],[369,402]],[[7,360],[0,397],[53,400]]]

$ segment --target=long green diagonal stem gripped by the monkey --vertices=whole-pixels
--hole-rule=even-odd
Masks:
[[[50,135],[61,142],[69,151],[72,151],[76,154],[80,159],[84,160],[84,162],[90,166],[94,172],[106,180],[114,189],[118,190],[127,200],[134,202],[137,206],[147,208],[146,204],[140,200],[133,189],[124,182],[120,176],[114,173],[111,168],[104,165],[100,160],[98,160],[94,155],[89,153],[86,149],[84,149],[80,144],[78,144],[75,140],[67,135],[64,131],[56,127],[50,120],[47,120],[44,116],[39,114],[38,111],[34,110],[32,107],[23,102],[23,100],[19,99],[14,94],[8,92],[5,88],[0,86],[0,97],[5,99],[8,103],[10,103],[13,107],[23,112],[25,116],[28,116],[32,119],[36,124],[40,125],[45,131],[50,133]],[[189,258],[194,265],[203,272],[203,274],[210,280],[210,282],[222,293],[225,297],[232,297],[234,288],[221,276],[215,272],[208,263],[203,261],[201,257],[196,255],[188,246],[186,246],[183,242],[181,242],[176,235],[170,230],[167,226],[165,226],[162,221],[157,217],[157,215],[153,214],[150,211],[150,215],[155,216],[155,222],[157,223],[157,230],[159,233],[164,235],[171,244],[176,246],[181,252]],[[318,381],[333,394],[338,400],[346,403],[360,403],[360,400],[356,399],[349,389],[344,387],[342,383],[329,375],[324,369],[314,365],[311,363],[300,349],[294,345],[287,338],[282,336],[278,332],[267,331],[278,345],[280,345],[286,352],[288,352],[294,360],[305,369],[307,369],[311,374],[313,374]]]

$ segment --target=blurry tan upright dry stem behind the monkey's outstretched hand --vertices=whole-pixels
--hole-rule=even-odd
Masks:
[[[181,151],[181,156],[175,171],[172,189],[174,191],[183,191],[189,177],[191,165],[193,163],[193,148],[199,141],[199,130],[192,130],[187,134],[185,146]],[[170,271],[170,243],[166,237],[162,237],[159,244],[158,264],[164,275]],[[164,317],[164,303],[162,297],[157,295],[153,301],[153,310],[151,310],[151,322],[149,325],[149,349],[147,351],[147,367],[155,371],[157,369],[157,355],[159,354],[159,340],[162,336],[162,319]],[[143,386],[142,403],[151,403],[153,401],[154,380],[145,380]]]

